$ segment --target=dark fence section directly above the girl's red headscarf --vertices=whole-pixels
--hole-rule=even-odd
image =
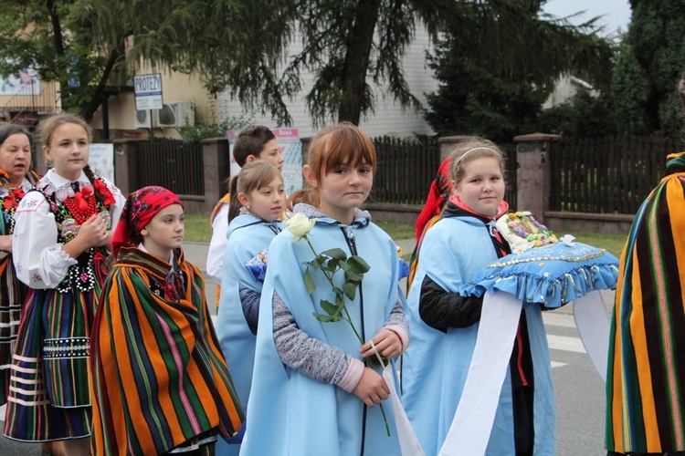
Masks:
[[[205,194],[202,144],[182,140],[139,142],[136,153],[138,186],[161,185],[180,195]]]

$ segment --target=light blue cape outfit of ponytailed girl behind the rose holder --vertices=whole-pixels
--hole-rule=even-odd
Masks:
[[[262,283],[248,272],[245,264],[269,247],[282,230],[283,223],[279,220],[266,223],[251,214],[238,215],[228,225],[216,336],[231,368],[240,403],[246,409],[255,363]],[[217,452],[226,454],[227,451],[237,454],[239,447],[219,442]]]

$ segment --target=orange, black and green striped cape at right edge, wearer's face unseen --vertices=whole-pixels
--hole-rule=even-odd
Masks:
[[[606,449],[685,451],[685,152],[643,202],[621,255]]]

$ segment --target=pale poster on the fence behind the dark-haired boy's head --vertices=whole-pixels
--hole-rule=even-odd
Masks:
[[[300,142],[300,135],[298,129],[276,128],[271,129],[271,131],[276,136],[280,153],[285,159],[281,175],[283,176],[285,191],[290,195],[302,188],[302,143]],[[231,176],[236,176],[240,172],[240,167],[233,156],[233,143],[236,141],[239,132],[240,130],[227,130],[226,132]]]

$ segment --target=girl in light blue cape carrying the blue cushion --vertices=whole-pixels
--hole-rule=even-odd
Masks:
[[[452,153],[452,196],[426,233],[407,298],[412,346],[402,360],[402,399],[427,455],[437,454],[446,439],[479,330],[483,298],[459,295],[459,286],[510,253],[495,229],[508,208],[503,165],[501,150],[487,140]],[[553,386],[540,306],[524,306],[512,345],[486,453],[554,454]]]

